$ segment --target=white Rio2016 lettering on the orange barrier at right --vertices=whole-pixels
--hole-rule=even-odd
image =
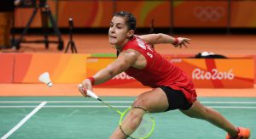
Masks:
[[[212,69],[212,71],[194,69],[192,72],[192,79],[195,80],[233,80],[234,78],[233,69],[224,72],[219,72],[218,69]]]

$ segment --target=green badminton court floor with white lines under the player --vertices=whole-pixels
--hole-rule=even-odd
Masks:
[[[102,97],[125,110],[135,97]],[[251,129],[256,138],[256,97],[199,97],[235,125]],[[37,111],[38,110],[38,111]],[[180,111],[153,114],[156,121],[150,138],[224,139],[226,133],[203,120]],[[119,122],[119,114],[93,98],[0,97],[0,137],[10,139],[108,138]]]

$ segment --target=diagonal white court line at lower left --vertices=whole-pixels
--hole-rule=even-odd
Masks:
[[[15,127],[11,129],[8,133],[6,133],[4,136],[2,136],[1,139],[6,139],[10,135],[12,135],[15,131],[17,131],[20,128],[21,125],[25,124],[26,121],[29,120],[33,114],[36,114],[40,108],[43,108],[46,103],[47,102],[40,103],[37,108],[34,108],[30,114],[27,114],[23,120],[20,120],[20,123],[15,125]]]

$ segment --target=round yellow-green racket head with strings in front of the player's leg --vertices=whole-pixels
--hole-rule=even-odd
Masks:
[[[130,133],[130,131],[126,131],[122,127],[122,123],[125,120],[125,117],[131,112],[131,110],[134,110],[134,108],[139,108],[143,111],[143,119],[140,122],[140,124],[137,126],[136,131]],[[125,136],[135,138],[135,139],[144,139],[151,136],[154,132],[154,126],[155,126],[155,120],[154,117],[144,108],[140,107],[130,107],[126,108],[125,111],[120,115],[119,119],[119,128],[120,130],[125,134]]]

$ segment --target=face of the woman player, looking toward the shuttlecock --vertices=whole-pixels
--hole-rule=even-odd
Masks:
[[[124,17],[113,16],[108,30],[108,42],[116,48],[123,47],[133,35],[133,31],[132,35],[131,31],[128,31],[128,26],[125,24]]]

